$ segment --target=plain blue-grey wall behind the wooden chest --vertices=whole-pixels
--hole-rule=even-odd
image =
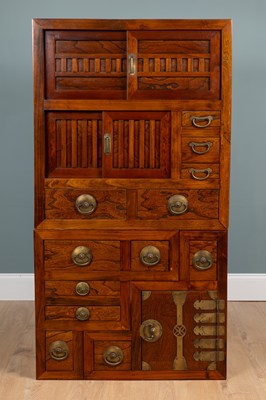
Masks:
[[[266,272],[265,0],[0,0],[0,273],[33,271],[34,17],[233,19],[229,268]]]

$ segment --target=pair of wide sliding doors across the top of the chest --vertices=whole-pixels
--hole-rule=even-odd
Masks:
[[[47,30],[48,99],[220,99],[219,30]]]

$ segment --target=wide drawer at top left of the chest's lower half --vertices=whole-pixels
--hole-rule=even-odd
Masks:
[[[120,242],[100,240],[46,240],[47,272],[119,271]]]

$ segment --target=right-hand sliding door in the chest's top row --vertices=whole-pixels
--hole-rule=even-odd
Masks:
[[[137,64],[129,97],[220,97],[218,32],[130,32],[128,46]]]

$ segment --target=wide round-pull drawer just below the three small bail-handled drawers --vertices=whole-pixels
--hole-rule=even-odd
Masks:
[[[182,204],[175,207],[178,201]],[[138,191],[137,212],[140,219],[215,219],[218,218],[218,209],[218,190]]]

